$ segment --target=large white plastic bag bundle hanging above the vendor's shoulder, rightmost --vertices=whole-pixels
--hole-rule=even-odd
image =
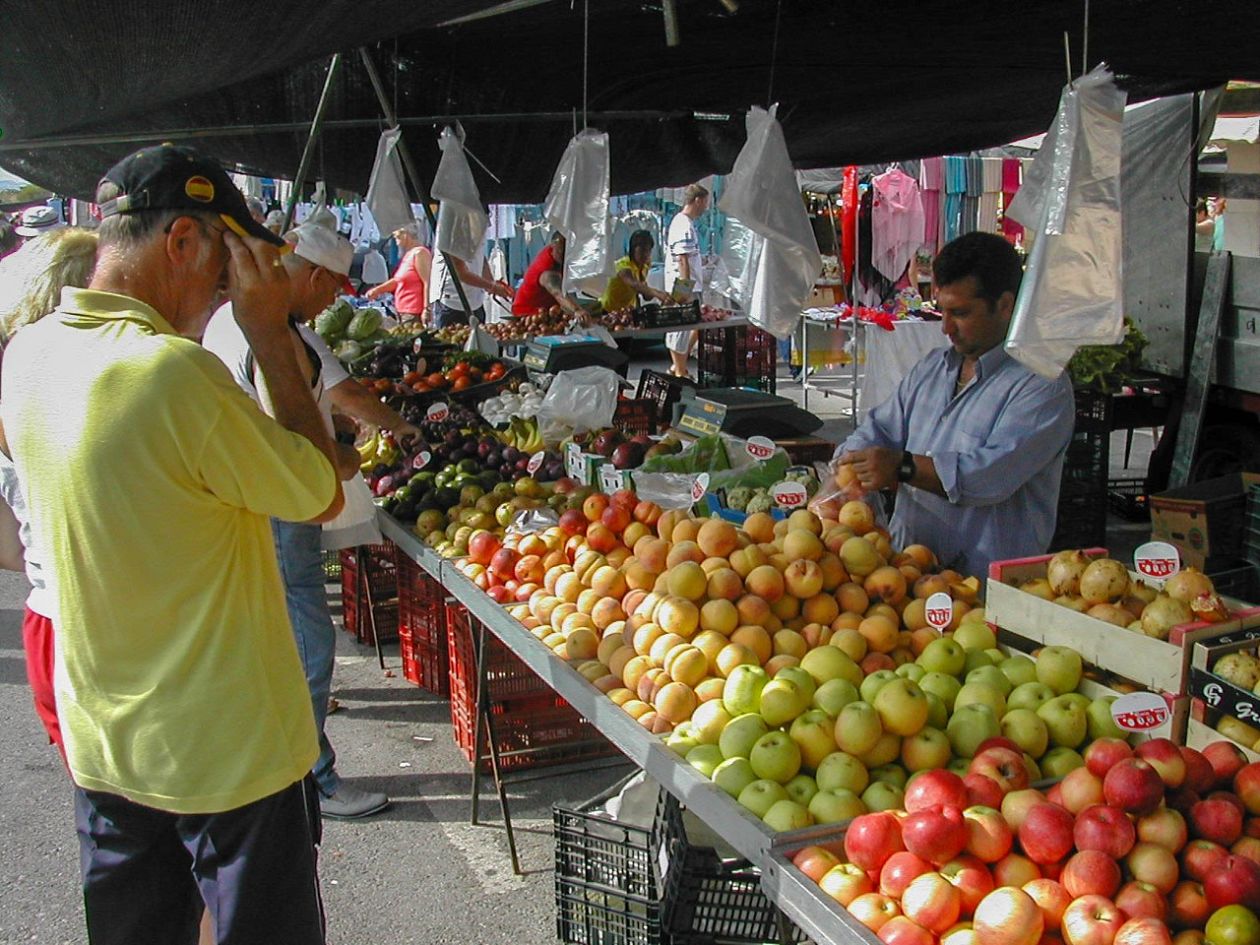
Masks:
[[[1079,346],[1124,336],[1124,98],[1106,66],[1067,86],[1008,210],[1034,241],[1005,349],[1045,377],[1058,377]]]

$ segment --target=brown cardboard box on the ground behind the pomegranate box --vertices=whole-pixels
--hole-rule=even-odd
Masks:
[[[1242,557],[1247,488],[1257,483],[1260,472],[1235,472],[1152,495],[1152,538],[1176,544],[1182,563],[1201,571],[1208,558]]]

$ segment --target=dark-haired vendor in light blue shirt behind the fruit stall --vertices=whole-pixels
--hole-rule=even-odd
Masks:
[[[837,483],[897,489],[893,542],[926,544],[942,566],[983,580],[992,561],[1048,549],[1075,425],[1072,386],[1003,349],[1022,278],[1005,239],[959,237],[934,275],[951,344],[925,355],[840,445]]]

